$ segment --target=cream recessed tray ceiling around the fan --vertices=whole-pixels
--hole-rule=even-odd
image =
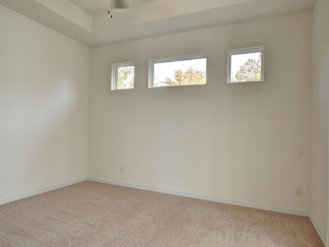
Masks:
[[[0,0],[0,4],[88,46],[312,10],[316,0]],[[111,7],[111,6],[110,6]]]

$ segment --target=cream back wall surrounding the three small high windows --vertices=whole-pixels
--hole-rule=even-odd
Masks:
[[[227,50],[260,45],[265,82],[226,84]],[[308,211],[311,46],[302,12],[92,48],[88,177]],[[148,89],[149,59],[200,52],[207,85]]]

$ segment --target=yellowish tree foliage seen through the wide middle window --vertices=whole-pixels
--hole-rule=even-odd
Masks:
[[[173,79],[166,77],[165,81],[157,82],[154,86],[179,86],[205,83],[206,72],[193,68],[193,66],[190,66],[186,70],[175,69]]]

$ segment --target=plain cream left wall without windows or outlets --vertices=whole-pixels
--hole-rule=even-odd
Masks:
[[[87,175],[90,48],[0,5],[0,200]]]

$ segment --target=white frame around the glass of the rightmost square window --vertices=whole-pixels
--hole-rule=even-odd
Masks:
[[[240,55],[240,54],[248,54],[248,53],[256,53],[261,52],[262,58],[261,58],[261,80],[259,81],[237,81],[237,82],[231,82],[231,58],[233,55]],[[228,50],[227,55],[227,83],[245,83],[245,82],[263,82],[264,81],[264,54],[265,54],[265,46],[255,46],[255,47],[249,47],[249,48],[240,48],[240,49],[231,49]]]

